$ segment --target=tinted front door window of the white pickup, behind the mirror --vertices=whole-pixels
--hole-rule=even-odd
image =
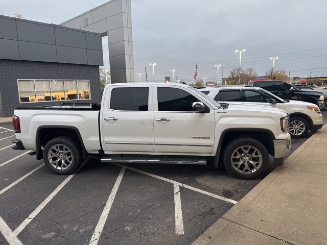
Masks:
[[[157,88],[159,111],[192,111],[193,102],[199,100],[179,88]]]

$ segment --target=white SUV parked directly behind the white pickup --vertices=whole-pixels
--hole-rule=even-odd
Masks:
[[[283,100],[259,87],[218,86],[199,90],[220,103],[263,105],[285,110],[290,115],[292,138],[305,137],[309,130],[314,133],[322,127],[322,115],[315,104]]]

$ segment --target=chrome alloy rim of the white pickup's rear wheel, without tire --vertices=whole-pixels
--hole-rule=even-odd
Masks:
[[[54,168],[64,170],[73,162],[73,154],[66,145],[55,144],[48,152],[48,159]]]

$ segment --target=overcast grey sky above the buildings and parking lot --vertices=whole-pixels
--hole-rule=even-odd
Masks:
[[[0,14],[59,24],[107,1],[0,0]],[[236,49],[246,49],[242,66],[264,75],[275,68],[291,70],[291,77],[327,76],[327,1],[325,0],[132,0],[132,28],[136,73],[152,80],[149,62],[156,62],[155,79],[175,76],[191,83],[195,64],[198,78],[224,77],[238,66]],[[109,66],[103,38],[104,63]],[[220,71],[221,72],[221,71]],[[221,76],[221,73],[220,73]],[[144,79],[144,77],[143,77]]]

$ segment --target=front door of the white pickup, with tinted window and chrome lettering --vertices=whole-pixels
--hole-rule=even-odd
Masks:
[[[215,111],[192,112],[201,96],[173,85],[153,86],[154,152],[211,154],[214,145]],[[202,99],[203,100],[203,99]],[[204,103],[205,104],[205,103]]]

